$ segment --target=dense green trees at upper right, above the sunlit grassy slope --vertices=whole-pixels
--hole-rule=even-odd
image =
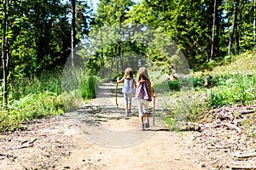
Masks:
[[[253,0],[143,0],[127,17],[166,32],[195,69],[208,59],[222,59],[255,47],[254,10]]]

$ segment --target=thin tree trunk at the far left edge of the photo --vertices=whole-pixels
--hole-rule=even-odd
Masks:
[[[6,32],[8,28],[8,1],[3,2],[3,38],[2,38],[2,66],[3,66],[3,107],[7,105],[7,59],[8,59],[8,42]]]

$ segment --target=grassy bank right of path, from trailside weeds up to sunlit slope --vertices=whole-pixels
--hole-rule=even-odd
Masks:
[[[256,98],[255,88],[256,51],[225,58],[212,71],[196,72],[192,89],[172,91],[167,104],[172,111],[165,115],[167,127],[177,128],[183,121],[203,122],[212,108],[250,105]]]

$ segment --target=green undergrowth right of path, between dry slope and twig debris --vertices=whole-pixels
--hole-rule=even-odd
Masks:
[[[252,71],[248,71],[252,72]],[[221,72],[220,72],[221,73]],[[212,108],[224,105],[247,105],[255,99],[256,74],[210,74],[193,78],[195,91],[173,92],[167,104],[168,127],[178,128],[180,122],[201,122]],[[207,90],[206,90],[207,88]],[[244,122],[243,126],[251,127]],[[250,129],[248,129],[250,131]],[[250,135],[255,135],[253,131]]]

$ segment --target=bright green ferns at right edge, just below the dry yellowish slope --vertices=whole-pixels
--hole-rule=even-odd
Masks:
[[[208,103],[211,107],[247,104],[254,99],[254,87],[256,75],[241,74],[214,74],[194,77],[193,83],[196,89],[210,88]]]

